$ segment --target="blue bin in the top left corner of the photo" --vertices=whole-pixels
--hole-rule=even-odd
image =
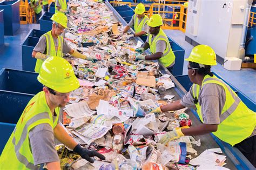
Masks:
[[[19,24],[19,1],[3,1],[0,10],[4,10],[4,35],[13,36],[21,28]]]

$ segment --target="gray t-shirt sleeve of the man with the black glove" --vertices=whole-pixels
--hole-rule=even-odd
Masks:
[[[56,117],[53,117],[53,120],[54,118]],[[35,165],[59,161],[54,139],[49,124],[40,124],[30,130],[29,141]]]

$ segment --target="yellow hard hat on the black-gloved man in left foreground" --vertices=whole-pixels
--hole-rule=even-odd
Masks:
[[[42,64],[37,80],[60,93],[68,93],[79,87],[72,66],[62,57],[47,58]]]

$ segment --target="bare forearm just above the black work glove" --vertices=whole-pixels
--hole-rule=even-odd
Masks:
[[[75,148],[78,144],[70,135],[64,130],[63,126],[58,123],[53,130],[55,138],[58,139],[62,144],[70,149]]]

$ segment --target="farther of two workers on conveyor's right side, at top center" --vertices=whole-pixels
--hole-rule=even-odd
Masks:
[[[129,35],[127,40],[131,40],[134,37],[147,35],[149,27],[146,23],[149,21],[149,17],[144,14],[145,11],[145,6],[142,3],[139,3],[134,9],[135,14],[132,16],[129,24],[125,26],[123,34],[126,33],[132,26],[134,27],[135,34]]]

